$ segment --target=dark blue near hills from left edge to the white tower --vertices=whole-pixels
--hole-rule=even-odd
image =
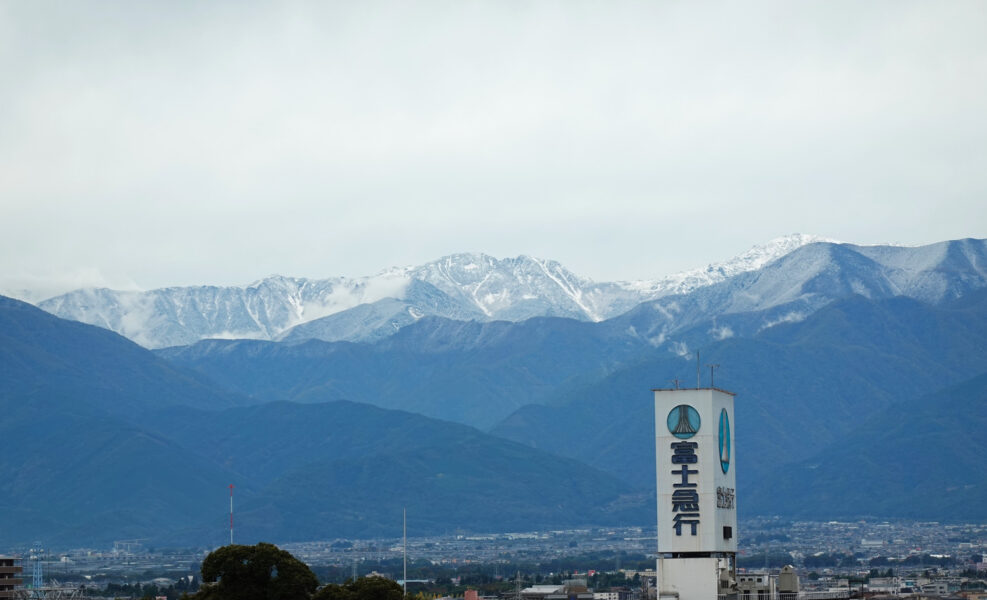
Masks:
[[[646,522],[571,459],[366,404],[243,400],[105,330],[0,303],[0,545],[238,540]],[[211,406],[206,410],[196,408]],[[314,525],[313,525],[314,524]]]

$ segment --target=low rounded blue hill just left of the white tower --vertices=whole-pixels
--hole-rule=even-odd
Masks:
[[[257,484],[237,502],[252,539],[393,534],[403,507],[420,533],[646,523],[652,512],[649,496],[585,464],[365,404],[170,409],[155,426]]]

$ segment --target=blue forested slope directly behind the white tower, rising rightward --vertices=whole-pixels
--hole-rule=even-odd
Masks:
[[[941,307],[854,297],[752,339],[704,347],[703,363],[721,365],[716,385],[738,394],[740,497],[880,411],[977,372],[987,364],[984,340],[987,292],[981,291]],[[551,448],[626,481],[650,483],[648,390],[668,387],[674,377],[694,385],[694,360],[641,362],[566,393],[553,406],[522,408],[492,432]],[[709,384],[705,369],[703,382]],[[766,510],[752,501],[740,508],[747,514]]]

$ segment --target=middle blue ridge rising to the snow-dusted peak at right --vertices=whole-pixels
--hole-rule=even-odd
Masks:
[[[928,256],[906,277],[896,274],[900,266],[889,269],[859,247],[810,244],[759,271],[643,303],[599,323],[561,317],[519,323],[423,317],[372,344],[202,341],[158,352],[252,394],[255,401],[304,402],[331,393],[487,429],[524,404],[551,404],[563,391],[578,393],[594,378],[639,361],[691,360],[696,349],[731,338],[764,334],[771,339],[772,329],[810,319],[848,298],[911,299],[894,295],[904,292],[935,307],[945,306],[955,294],[975,296],[976,290],[987,289],[987,273],[974,264],[987,256],[987,244],[973,246],[947,242],[919,248]],[[935,268],[956,247],[961,257],[972,259],[946,274],[962,281],[945,285]],[[913,249],[888,253],[899,263],[913,257]]]

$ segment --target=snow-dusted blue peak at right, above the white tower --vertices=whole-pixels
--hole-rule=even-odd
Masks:
[[[802,321],[850,296],[903,296],[935,306],[984,288],[987,240],[918,247],[820,242],[689,293],[641,303],[607,324],[687,356],[710,340]]]

